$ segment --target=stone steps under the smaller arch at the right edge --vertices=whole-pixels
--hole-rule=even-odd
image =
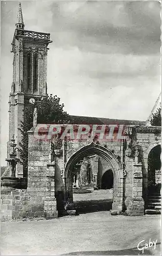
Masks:
[[[152,193],[148,196],[145,214],[161,214],[161,195]]]

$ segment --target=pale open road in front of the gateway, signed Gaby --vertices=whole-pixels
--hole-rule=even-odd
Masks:
[[[109,211],[54,220],[3,222],[1,255],[160,255],[160,216],[111,216]]]

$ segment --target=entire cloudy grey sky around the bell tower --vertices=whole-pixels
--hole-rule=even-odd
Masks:
[[[2,4],[2,165],[18,3]],[[160,3],[21,1],[25,29],[51,33],[48,93],[71,115],[146,120],[160,92]]]

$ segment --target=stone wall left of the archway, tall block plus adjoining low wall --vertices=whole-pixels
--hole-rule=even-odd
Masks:
[[[28,188],[2,191],[2,220],[58,216],[55,164],[49,163],[49,155],[49,141],[36,140],[30,131]]]

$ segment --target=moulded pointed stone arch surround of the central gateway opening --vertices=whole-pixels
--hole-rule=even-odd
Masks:
[[[83,146],[75,152],[70,159],[68,159],[65,170],[64,170],[64,184],[66,191],[66,200],[73,202],[73,184],[71,173],[73,172],[73,166],[86,156],[99,155],[105,160],[109,161],[112,166],[112,173],[114,177],[114,187],[113,187],[113,203],[112,209],[123,209],[123,172],[121,164],[114,154],[109,151],[106,147],[103,147],[97,143],[91,142],[86,146]]]

